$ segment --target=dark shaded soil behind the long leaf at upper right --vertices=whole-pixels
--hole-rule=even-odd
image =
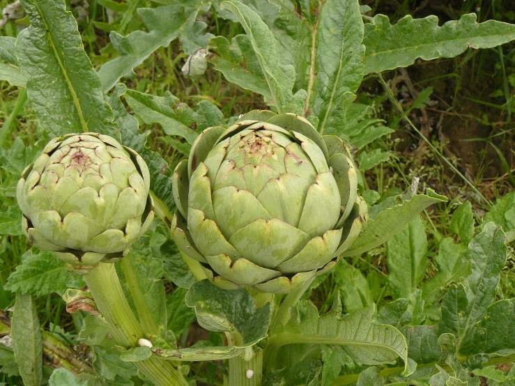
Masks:
[[[400,4],[403,2],[400,0],[365,0],[363,3],[373,9],[376,7],[375,13],[389,15],[392,23],[403,17],[403,11],[406,11],[401,7]],[[477,12],[477,8],[464,9],[462,0],[420,0],[408,3],[410,15],[414,17],[437,15],[440,25],[459,18],[463,13]],[[513,18],[510,12],[515,12],[515,2],[504,1],[505,4],[501,3],[500,6],[498,3],[497,1],[495,4],[497,16],[495,19],[514,23],[514,20],[509,20],[509,17]],[[479,14],[480,21],[494,18],[491,1],[483,1],[482,9],[487,11],[483,11],[483,15]],[[514,47],[513,43],[502,47],[507,76],[515,71],[512,52]],[[509,167],[514,169],[515,125],[513,121],[508,121],[498,48],[468,49],[456,59],[417,61],[406,71],[391,71],[384,76],[392,82],[392,89],[394,91],[397,89],[396,98],[401,101],[403,107],[408,107],[423,88],[433,87],[431,102],[426,108],[413,110],[410,114],[417,128],[433,143],[439,141],[443,145],[440,146],[445,157],[452,161],[472,183],[478,183],[479,191],[487,199],[495,199],[495,196],[513,190],[500,156],[489,143],[491,141],[500,149]],[[405,79],[406,77],[408,79]],[[509,86],[509,88],[513,93],[513,87]],[[415,95],[412,95],[413,89]],[[372,95],[383,92],[381,85],[374,81],[364,82],[361,91]],[[385,119],[388,120],[397,114],[395,107],[388,102],[383,107]],[[433,164],[433,157],[426,157],[430,150],[422,144],[420,135],[404,123],[400,126],[393,135],[393,138],[400,139],[396,150],[408,158],[419,157],[420,164]],[[445,167],[445,169],[450,180],[464,185],[463,180],[460,181],[450,168]]]

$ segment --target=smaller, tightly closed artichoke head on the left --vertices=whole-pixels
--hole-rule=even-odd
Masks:
[[[134,150],[92,132],[52,139],[17,185],[22,227],[77,273],[116,261],[153,220],[150,173]],[[82,271],[81,271],[82,270]]]

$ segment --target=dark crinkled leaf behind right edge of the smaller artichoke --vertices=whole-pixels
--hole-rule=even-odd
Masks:
[[[157,196],[157,199],[160,199],[160,203],[164,204],[167,210],[172,213],[175,208],[174,196],[170,194],[171,175],[173,171],[159,154],[146,147],[148,132],[146,134],[139,132],[137,118],[128,114],[120,100],[121,95],[123,95],[125,91],[127,91],[127,88],[124,84],[117,84],[109,98],[109,104],[114,111],[115,122],[120,127],[122,143],[136,150],[139,155],[143,157],[151,173],[152,192]],[[154,199],[155,206],[160,204],[157,202],[157,199]]]

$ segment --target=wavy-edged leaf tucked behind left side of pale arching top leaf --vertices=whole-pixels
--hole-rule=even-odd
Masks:
[[[265,75],[247,35],[235,36],[231,45],[224,36],[217,36],[209,40],[208,47],[214,52],[209,59],[210,63],[229,82],[261,94],[267,101],[272,99]]]

